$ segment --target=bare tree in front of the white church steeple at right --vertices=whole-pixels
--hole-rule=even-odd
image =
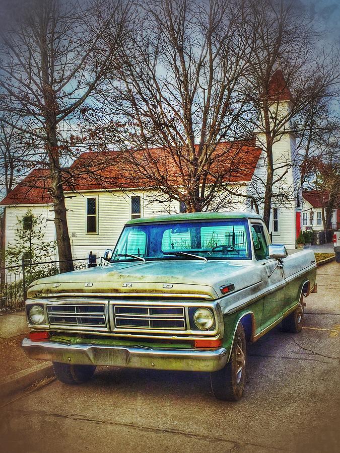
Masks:
[[[292,162],[284,155],[275,162],[273,146],[290,131],[290,122],[299,112],[325,92],[338,94],[339,59],[336,52],[316,53],[315,30],[294,2],[246,0],[243,8],[238,27],[252,43],[245,84],[253,111],[249,121],[265,153],[266,171],[257,181],[256,192],[262,192],[259,202],[269,226],[273,200],[282,204],[294,197],[294,187],[284,181]]]

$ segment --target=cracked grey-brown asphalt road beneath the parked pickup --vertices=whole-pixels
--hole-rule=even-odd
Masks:
[[[300,334],[248,347],[247,387],[217,401],[209,375],[102,367],[80,387],[53,381],[2,408],[2,451],[340,451],[340,264],[318,268]]]

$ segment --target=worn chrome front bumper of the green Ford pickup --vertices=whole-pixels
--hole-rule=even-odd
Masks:
[[[141,346],[105,346],[31,341],[24,338],[22,347],[33,359],[73,365],[111,365],[128,368],[180,371],[217,371],[227,363],[225,348],[215,350],[152,349]]]

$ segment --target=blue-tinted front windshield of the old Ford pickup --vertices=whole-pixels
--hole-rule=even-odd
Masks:
[[[192,255],[208,260],[251,259],[247,221],[169,221],[125,226],[111,262],[137,260],[138,257],[197,259]]]

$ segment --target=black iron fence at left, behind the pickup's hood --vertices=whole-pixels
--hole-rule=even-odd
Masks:
[[[90,253],[87,258],[72,260],[75,270],[96,266],[96,255]],[[22,260],[19,266],[0,269],[0,313],[18,310],[24,307],[26,291],[32,281],[60,273],[60,263],[65,261],[44,261],[31,263]]]

